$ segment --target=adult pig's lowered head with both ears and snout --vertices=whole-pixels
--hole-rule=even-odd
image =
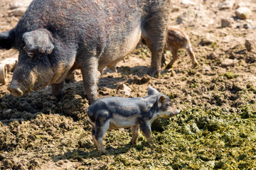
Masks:
[[[26,33],[14,29],[0,33],[0,49],[12,47],[19,51],[18,64],[8,87],[14,96],[23,96],[28,91],[55,83],[65,72],[65,63],[56,57],[58,48],[46,29]]]

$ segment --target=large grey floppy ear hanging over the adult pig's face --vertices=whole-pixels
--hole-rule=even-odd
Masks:
[[[53,52],[53,38],[48,30],[40,29],[24,33],[23,40],[26,44],[23,49],[31,57],[33,57],[35,53],[50,55],[50,53]]]

